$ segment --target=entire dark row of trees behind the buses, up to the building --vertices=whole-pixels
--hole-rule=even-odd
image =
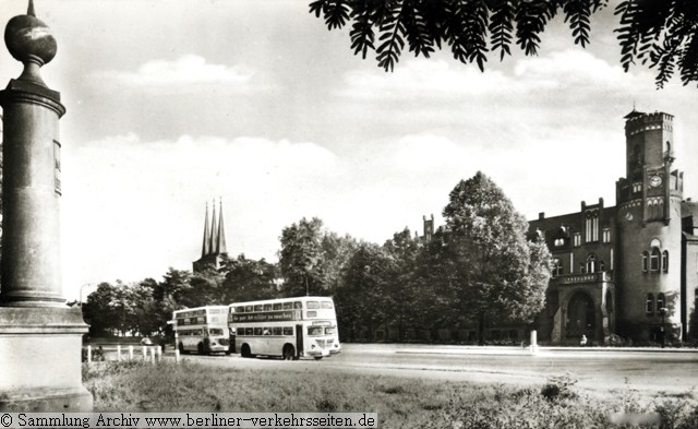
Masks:
[[[528,223],[502,190],[478,172],[454,188],[443,216],[433,234],[405,228],[382,246],[302,218],[281,231],[278,263],[222,255],[218,270],[103,283],[85,320],[92,335],[168,335],[177,309],[321,295],[334,297],[342,341],[389,325],[398,341],[408,330],[477,326],[481,342],[488,321],[530,322],[544,305],[551,257],[527,240]]]

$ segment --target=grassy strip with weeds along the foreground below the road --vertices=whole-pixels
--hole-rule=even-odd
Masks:
[[[661,424],[698,428],[691,392],[613,400],[577,392],[575,381],[542,389],[277,370],[213,370],[203,365],[98,362],[83,367],[98,412],[370,412],[381,428],[617,428],[614,413],[657,414]],[[622,426],[623,427],[623,426]]]

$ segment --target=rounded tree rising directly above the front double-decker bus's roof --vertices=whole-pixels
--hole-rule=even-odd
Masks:
[[[324,295],[327,289],[323,272],[323,222],[303,217],[281,231],[279,267],[285,296]]]

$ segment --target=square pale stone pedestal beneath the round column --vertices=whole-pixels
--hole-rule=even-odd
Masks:
[[[80,308],[0,307],[0,410],[91,412]]]

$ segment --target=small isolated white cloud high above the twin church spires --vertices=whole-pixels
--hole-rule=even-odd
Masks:
[[[108,71],[98,76],[129,86],[226,84],[243,87],[253,74],[240,65],[212,64],[203,57],[184,55],[173,61],[157,59],[145,62],[135,72]]]

